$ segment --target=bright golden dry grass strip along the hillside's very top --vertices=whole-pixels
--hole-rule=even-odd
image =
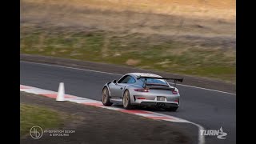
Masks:
[[[197,18],[222,18],[232,20],[236,16],[235,0],[22,0],[47,5],[69,5],[100,10],[131,10],[154,14],[175,14]]]

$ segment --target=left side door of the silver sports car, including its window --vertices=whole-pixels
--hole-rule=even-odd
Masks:
[[[129,82],[130,75],[125,75],[118,80],[118,82],[111,86],[111,97],[112,98],[122,98],[122,94],[125,90],[125,86],[127,86],[127,82]]]

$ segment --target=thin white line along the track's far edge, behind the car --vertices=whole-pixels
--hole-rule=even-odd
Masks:
[[[20,62],[26,62],[26,61],[20,61]],[[74,70],[84,70],[84,71],[90,71],[90,72],[102,73],[102,74],[121,75],[121,76],[123,75],[123,74],[108,73],[108,72],[105,72],[105,71],[88,70],[88,69],[79,69],[79,68],[70,67],[70,66],[58,66],[58,65],[46,64],[46,63],[38,63],[38,62],[26,62],[26,63],[32,63],[32,64],[38,64],[38,65],[44,65],[44,66],[56,66],[56,67],[62,67],[62,68],[67,68],[67,69],[74,69]],[[173,82],[169,82],[169,83],[173,84]],[[214,92],[218,92],[218,93],[236,95],[236,94],[229,93],[229,92],[225,92],[225,91],[206,89],[206,88],[198,87],[198,86],[189,86],[189,85],[182,85],[182,84],[177,84],[177,85],[179,85],[179,86],[192,87],[192,88],[201,89],[201,90],[210,90],[210,91],[214,91]]]

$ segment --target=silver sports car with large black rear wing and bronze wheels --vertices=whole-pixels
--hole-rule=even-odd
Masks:
[[[174,80],[174,86],[170,86],[167,79]],[[176,82],[182,81],[183,78],[162,78],[157,74],[125,74],[103,86],[102,103],[104,106],[122,104],[128,110],[134,106],[157,106],[176,111],[180,105]]]

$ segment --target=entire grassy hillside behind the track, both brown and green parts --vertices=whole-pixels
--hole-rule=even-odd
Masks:
[[[137,13],[140,9],[136,8],[136,2],[130,9],[136,12],[120,13],[109,10],[109,1],[99,5],[102,7],[95,5],[99,1],[56,2],[22,0],[22,54],[114,63],[235,83],[233,4],[230,7],[223,4],[223,8],[218,3],[208,6],[195,2],[196,6],[208,6],[209,11],[215,10],[210,7],[214,5],[219,12],[231,10],[222,18],[209,19],[206,15],[210,13],[200,13],[206,19],[197,19],[188,18],[187,14],[184,17],[163,15],[163,12],[159,15],[157,10],[150,14]],[[145,5],[142,12],[150,6]]]

